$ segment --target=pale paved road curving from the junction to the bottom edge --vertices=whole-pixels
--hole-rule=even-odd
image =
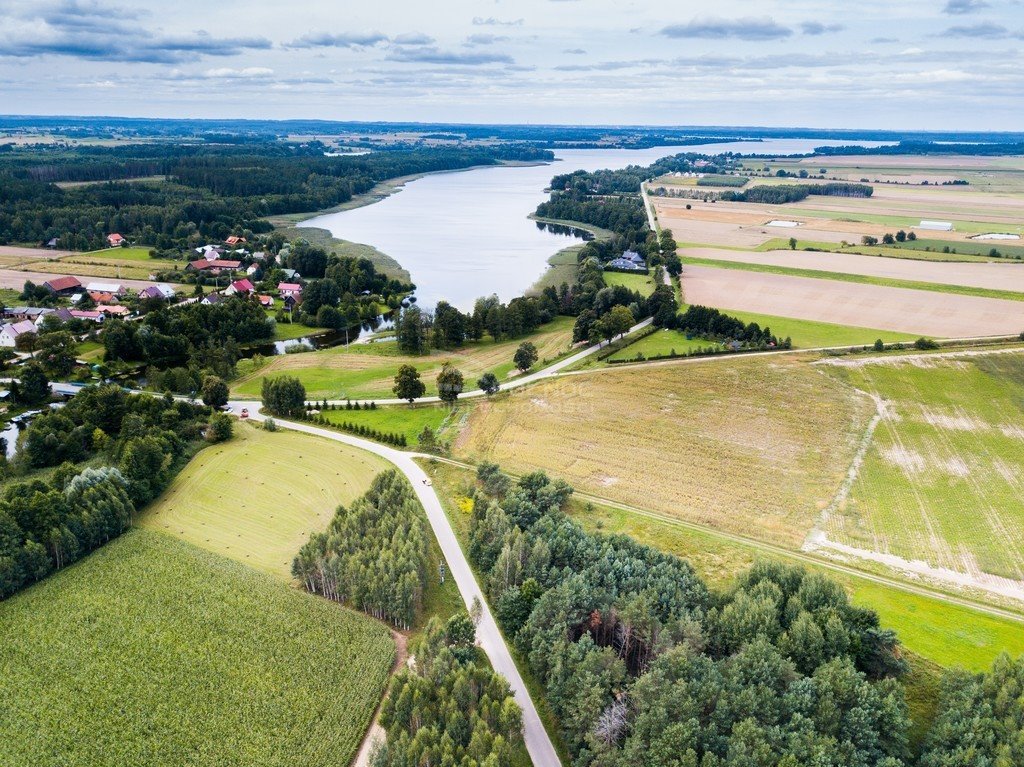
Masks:
[[[259,412],[259,402],[231,401],[229,407],[236,415],[240,414],[243,408],[247,408],[250,414],[250,421],[265,420],[265,417]],[[499,631],[498,624],[490,613],[487,600],[480,590],[479,584],[476,583],[473,570],[466,560],[458,539],[455,537],[455,530],[452,529],[452,524],[444,514],[440,499],[437,498],[433,486],[427,484],[427,481],[429,481],[427,473],[413,460],[414,458],[430,458],[430,456],[397,451],[368,439],[360,439],[306,423],[276,421],[276,424],[281,428],[293,429],[326,439],[333,439],[337,442],[344,442],[353,448],[368,451],[390,462],[406,475],[412,483],[417,498],[420,499],[420,503],[423,504],[423,509],[427,513],[427,519],[434,530],[434,536],[437,538],[441,553],[444,554],[444,559],[447,560],[452,578],[455,579],[456,585],[459,587],[459,593],[462,595],[467,609],[472,604],[474,597],[479,600],[480,605],[483,607],[483,614],[479,625],[476,627],[476,639],[490,659],[490,665],[495,668],[495,671],[509,681],[509,685],[515,694],[515,700],[519,704],[519,708],[522,709],[523,739],[526,742],[526,750],[529,752],[529,757],[535,767],[560,767],[561,761],[558,759],[555,747],[551,742],[551,738],[548,737],[547,730],[544,729],[544,724],[541,722],[541,716],[537,712],[537,707],[534,706],[529,691],[526,689],[526,685],[522,681],[522,676],[520,676],[519,670],[512,659],[512,653],[509,652],[508,645],[505,644],[505,638],[502,636],[501,631]]]

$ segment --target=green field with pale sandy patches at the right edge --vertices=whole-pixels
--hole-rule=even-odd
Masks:
[[[1024,352],[851,363],[820,368],[885,417],[828,538],[1024,580]]]

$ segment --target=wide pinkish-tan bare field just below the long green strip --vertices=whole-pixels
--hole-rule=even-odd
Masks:
[[[934,338],[1017,334],[1024,302],[687,265],[687,303]]]

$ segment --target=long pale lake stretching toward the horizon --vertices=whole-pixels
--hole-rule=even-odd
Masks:
[[[547,200],[552,176],[575,170],[649,165],[685,152],[744,155],[802,154],[815,146],[880,142],[821,139],[729,141],[649,150],[556,150],[549,165],[486,167],[436,173],[406,184],[373,205],[303,221],[336,238],[372,245],[409,269],[421,305],[439,300],[466,310],[493,293],[520,296],[544,273],[548,258],[581,242],[541,229],[527,216]]]

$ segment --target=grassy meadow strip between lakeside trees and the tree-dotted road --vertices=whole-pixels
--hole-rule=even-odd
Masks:
[[[453,351],[433,350],[422,356],[408,356],[398,352],[392,341],[336,346],[305,354],[282,354],[271,357],[253,371],[243,368],[243,375],[232,385],[238,397],[259,397],[264,378],[295,376],[306,387],[309,399],[360,399],[392,397],[394,375],[402,365],[412,365],[423,377],[427,394],[436,394],[435,380],[445,361],[462,371],[466,388],[476,388],[476,379],[487,372],[505,380],[517,371],[512,355],[523,341],[537,345],[541,360],[554,360],[570,350],[572,340],[571,317],[558,317],[528,338],[511,341],[483,340],[469,343]]]

